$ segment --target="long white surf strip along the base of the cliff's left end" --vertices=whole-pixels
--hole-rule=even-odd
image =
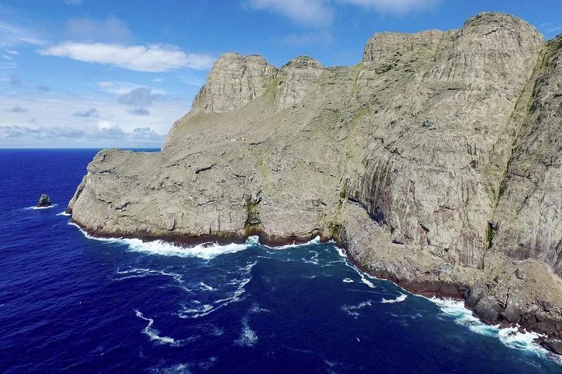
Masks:
[[[176,256],[182,258],[197,257],[204,260],[212,260],[218,255],[226,255],[228,253],[236,253],[243,251],[251,246],[250,242],[244,244],[230,243],[225,246],[221,246],[218,243],[202,243],[194,247],[183,247],[176,246],[172,243],[168,243],[162,240],[155,241],[142,241],[141,239],[123,239],[123,238],[98,238],[96,236],[91,236],[85,232],[81,227],[79,227],[74,222],[69,222],[69,225],[78,227],[84,236],[88,239],[107,241],[111,243],[123,243],[129,246],[129,250],[133,252],[148,253],[150,255],[162,255],[162,256]]]

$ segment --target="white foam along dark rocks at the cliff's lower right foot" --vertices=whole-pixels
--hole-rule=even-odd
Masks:
[[[475,333],[498,338],[507,347],[532,352],[543,358],[551,354],[547,349],[535,343],[535,339],[544,335],[527,331],[521,333],[518,327],[499,328],[499,325],[486,325],[473,316],[472,312],[464,307],[462,301],[441,298],[430,298],[429,300],[438,305],[443,314],[450,316],[455,319],[456,323],[470,328]]]

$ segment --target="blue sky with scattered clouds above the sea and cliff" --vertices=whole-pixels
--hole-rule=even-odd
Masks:
[[[560,0],[0,0],[0,147],[159,147],[222,53],[355,65],[481,11],[562,32]]]

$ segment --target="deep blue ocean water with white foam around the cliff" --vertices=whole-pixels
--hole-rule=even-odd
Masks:
[[[410,295],[332,243],[100,241],[65,211],[95,150],[0,150],[0,372],[560,373],[532,335]],[[42,193],[53,208],[32,209]]]

